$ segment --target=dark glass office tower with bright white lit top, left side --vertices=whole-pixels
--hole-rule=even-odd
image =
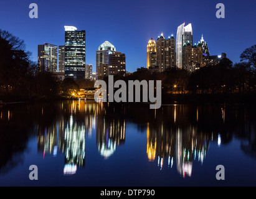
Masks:
[[[65,78],[85,78],[85,30],[65,26]]]

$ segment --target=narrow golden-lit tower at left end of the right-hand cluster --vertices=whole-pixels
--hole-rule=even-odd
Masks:
[[[156,42],[151,38],[146,47],[146,67],[149,69],[157,66]]]

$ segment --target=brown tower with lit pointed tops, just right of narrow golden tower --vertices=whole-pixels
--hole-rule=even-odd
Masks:
[[[156,55],[159,72],[164,72],[169,67],[175,67],[175,39],[173,35],[165,39],[162,33],[158,37],[156,40]]]

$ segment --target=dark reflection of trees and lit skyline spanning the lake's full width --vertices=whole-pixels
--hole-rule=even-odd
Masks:
[[[136,125],[133,131],[145,134],[146,149],[138,153],[146,155],[148,164],[159,170],[175,169],[181,177],[192,176],[195,162],[204,164],[211,143],[221,148],[234,137],[244,154],[256,158],[255,111],[244,105],[168,105],[152,110],[148,104],[78,100],[2,106],[0,113],[2,173],[21,164],[17,155],[22,157],[36,132],[37,154],[42,159],[62,154],[63,174],[76,174],[86,169],[87,135],[95,137],[97,154],[93,155],[109,160],[118,146],[131,142],[126,138],[131,133],[129,124]]]

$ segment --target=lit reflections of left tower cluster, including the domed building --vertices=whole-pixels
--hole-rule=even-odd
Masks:
[[[50,118],[51,113],[45,111],[40,114],[43,122],[37,126],[37,148],[43,157],[65,154],[64,175],[75,174],[78,167],[85,167],[85,134],[92,137],[96,130],[98,151],[105,159],[115,152],[116,146],[125,143],[125,118],[103,103],[66,101],[55,110],[59,118]]]

